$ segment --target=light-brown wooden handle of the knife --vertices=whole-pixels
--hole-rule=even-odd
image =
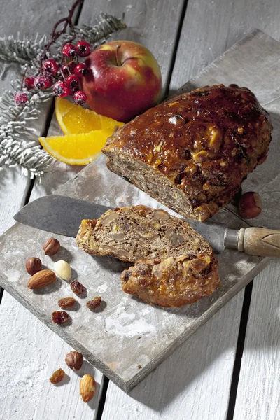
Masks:
[[[280,230],[240,229],[237,249],[249,255],[280,257]]]

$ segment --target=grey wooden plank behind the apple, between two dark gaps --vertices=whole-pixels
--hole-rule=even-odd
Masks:
[[[102,10],[119,17],[125,12],[127,29],[114,36],[114,39],[139,42],[153,52],[160,64],[165,92],[183,5],[183,0],[97,0],[94,1],[93,8],[92,3],[87,1],[83,6],[80,21],[92,25],[93,10]]]

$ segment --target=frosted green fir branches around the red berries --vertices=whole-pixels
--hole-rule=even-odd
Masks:
[[[116,31],[125,28],[125,24],[112,15],[100,13],[98,23],[94,27],[82,25],[76,26],[77,38],[83,38],[92,45],[92,49],[104,43],[105,39]],[[52,45],[48,55],[57,59],[61,56],[62,45],[70,38],[69,34],[62,36],[59,41]],[[34,38],[13,35],[0,38],[0,77],[6,68],[12,64],[18,64],[24,72],[29,66],[34,73],[38,71],[38,57],[43,53],[48,37],[37,34]],[[2,64],[2,66],[1,66]],[[18,82],[18,84],[20,84]],[[38,119],[41,111],[39,105],[50,101],[52,92],[27,91],[28,102],[22,108],[16,106],[13,96],[20,90],[18,85],[11,85],[11,89],[4,92],[0,98],[0,170],[4,165],[9,167],[20,165],[26,175],[41,176],[50,170],[55,162],[38,144],[36,130],[32,127],[34,120]]]

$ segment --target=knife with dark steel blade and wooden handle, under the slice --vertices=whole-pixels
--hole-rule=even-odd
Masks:
[[[82,219],[99,218],[112,207],[64,195],[45,195],[22,207],[14,219],[32,228],[76,237]],[[249,255],[280,257],[280,231],[265,228],[230,229],[223,223],[188,221],[215,253],[225,248]]]

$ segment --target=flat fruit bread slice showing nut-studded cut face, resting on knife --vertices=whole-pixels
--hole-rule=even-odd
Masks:
[[[82,221],[76,242],[87,253],[130,262],[213,253],[189,223],[142,205],[110,209],[97,221]]]

